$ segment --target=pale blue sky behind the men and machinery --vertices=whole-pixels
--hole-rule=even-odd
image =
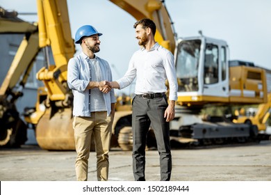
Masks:
[[[114,80],[122,77],[139,49],[133,29],[136,19],[108,0],[67,0],[67,5],[72,37],[80,26],[95,26],[103,33],[97,56],[108,61]],[[35,0],[0,0],[0,6],[18,13],[37,12]],[[179,38],[198,36],[201,30],[204,36],[227,41],[231,60],[251,61],[271,70],[270,0],[165,0],[165,6]],[[38,21],[36,15],[18,17]]]

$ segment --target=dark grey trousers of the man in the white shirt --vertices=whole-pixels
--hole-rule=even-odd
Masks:
[[[170,123],[165,121],[167,98],[145,99],[138,95],[133,99],[133,176],[145,181],[145,147],[149,126],[154,129],[160,156],[161,180],[170,180],[172,156],[170,151]]]

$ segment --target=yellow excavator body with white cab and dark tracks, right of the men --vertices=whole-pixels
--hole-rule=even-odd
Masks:
[[[229,112],[231,117],[202,114],[208,107],[218,110],[222,106],[266,104],[270,83],[264,68],[245,61],[229,61],[224,40],[205,36],[183,38],[176,48],[179,112],[171,123],[175,140],[181,137],[197,144],[230,143],[256,140],[259,131],[265,134],[256,123],[233,121],[235,117]],[[263,109],[259,111],[265,114]]]

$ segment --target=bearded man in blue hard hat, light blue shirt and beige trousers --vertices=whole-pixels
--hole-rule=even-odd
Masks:
[[[69,60],[67,82],[74,95],[73,127],[76,146],[76,178],[88,180],[91,137],[97,153],[97,180],[108,180],[108,153],[115,114],[115,94],[111,90],[109,63],[95,53],[100,51],[99,33],[93,26],[81,26],[75,43],[82,52]]]

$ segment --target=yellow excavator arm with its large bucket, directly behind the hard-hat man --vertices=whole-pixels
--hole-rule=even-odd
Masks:
[[[75,48],[67,1],[37,0],[37,6],[39,45],[46,54],[46,66],[36,75],[43,81],[44,88],[38,93],[36,112],[28,119],[37,123],[36,139],[41,148],[74,150],[73,97],[67,87],[67,63],[74,56]],[[41,104],[46,107],[44,114],[40,118],[32,117],[37,115]]]

